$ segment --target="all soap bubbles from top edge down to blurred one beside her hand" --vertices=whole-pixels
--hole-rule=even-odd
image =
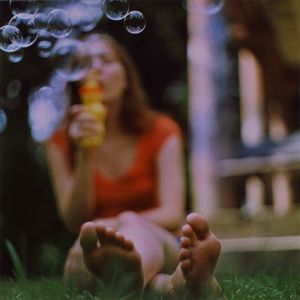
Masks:
[[[103,17],[122,21],[131,34],[141,33],[146,26],[141,12],[129,10],[128,0],[9,0],[9,8],[10,20],[0,28],[0,50],[6,52],[8,61],[22,61],[24,49],[34,45],[37,55],[48,59],[54,69],[48,85],[28,98],[28,121],[36,141],[49,138],[64,116],[67,82],[82,79],[90,68],[83,43],[77,39],[80,33],[96,28]],[[20,91],[21,82],[11,81],[1,93],[1,107],[15,108]],[[6,123],[6,114],[0,109],[0,132]]]

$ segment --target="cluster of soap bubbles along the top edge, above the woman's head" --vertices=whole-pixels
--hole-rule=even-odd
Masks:
[[[24,54],[20,49],[35,43],[38,55],[48,58],[56,39],[93,30],[103,16],[123,20],[125,29],[132,34],[142,32],[146,26],[141,12],[129,11],[128,0],[10,0],[9,7],[12,17],[0,28],[0,50],[16,52],[8,55],[11,62],[20,61]]]

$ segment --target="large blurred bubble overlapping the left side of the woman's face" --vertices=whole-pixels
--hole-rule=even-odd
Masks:
[[[90,68],[90,60],[84,57],[83,43],[74,39],[59,40],[51,51],[56,73],[67,81],[82,79]]]

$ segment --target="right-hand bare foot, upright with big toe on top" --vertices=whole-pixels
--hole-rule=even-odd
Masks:
[[[189,214],[187,223],[182,227],[180,263],[168,283],[175,298],[182,293],[193,300],[205,294],[221,295],[221,288],[213,276],[220,248],[206,220],[198,213]]]

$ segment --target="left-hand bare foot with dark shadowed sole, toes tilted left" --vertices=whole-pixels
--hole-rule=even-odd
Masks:
[[[101,222],[83,224],[79,240],[86,267],[101,280],[104,288],[111,287],[119,293],[118,297],[140,297],[141,258],[130,240]]]

